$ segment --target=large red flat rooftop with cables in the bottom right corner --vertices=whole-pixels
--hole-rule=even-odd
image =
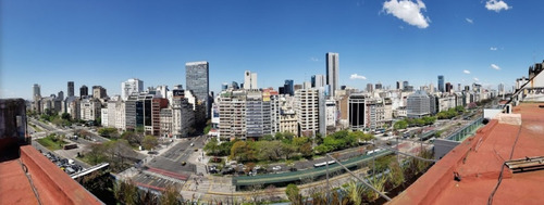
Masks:
[[[511,159],[544,156],[544,108],[539,105],[544,103],[521,103],[514,114],[492,119],[390,204],[487,204],[510,154]],[[505,167],[493,204],[543,204],[543,191],[544,169],[514,174]]]

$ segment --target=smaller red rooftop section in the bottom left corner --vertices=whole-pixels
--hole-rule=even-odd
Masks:
[[[36,149],[20,149],[20,158],[0,163],[0,205],[38,204],[32,184],[42,204],[102,204]],[[28,170],[32,184],[20,163]]]

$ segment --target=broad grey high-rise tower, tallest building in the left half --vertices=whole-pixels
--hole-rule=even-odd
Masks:
[[[188,62],[185,64],[185,82],[187,90],[193,90],[197,100],[206,107],[206,118],[210,117],[210,73],[207,61]],[[257,78],[257,77],[256,77]]]

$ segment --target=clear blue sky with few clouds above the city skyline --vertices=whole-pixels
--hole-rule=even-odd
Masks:
[[[66,92],[66,81],[185,86],[185,63],[210,63],[210,89],[258,73],[259,87],[309,81],[339,53],[341,85],[477,81],[507,88],[544,59],[541,0],[1,2],[1,98]],[[469,73],[469,74],[468,74]],[[358,78],[351,79],[357,74]],[[361,77],[363,76],[363,77]]]

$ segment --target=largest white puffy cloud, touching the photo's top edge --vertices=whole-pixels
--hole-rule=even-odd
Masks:
[[[406,23],[419,28],[429,27],[431,20],[421,13],[425,11],[425,3],[421,0],[416,2],[411,0],[391,0],[383,3],[383,11],[387,14],[393,14]]]

